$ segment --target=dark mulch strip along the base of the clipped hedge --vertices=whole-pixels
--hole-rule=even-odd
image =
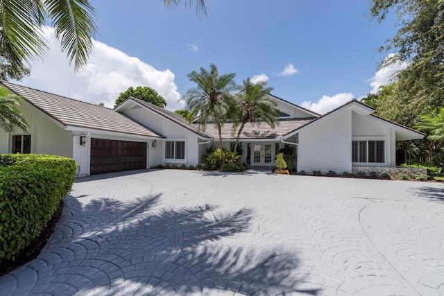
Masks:
[[[33,259],[37,258],[37,256],[42,251],[44,245],[49,241],[49,238],[56,230],[56,224],[58,220],[62,218],[63,211],[63,200],[60,201],[60,205],[56,212],[54,212],[53,217],[49,220],[48,225],[42,230],[40,236],[33,239],[28,247],[24,248],[22,252],[19,252],[17,256],[15,256],[15,260],[6,260],[0,264],[0,277],[2,275],[6,275],[8,272],[15,270],[15,268],[19,268],[20,266],[28,263],[29,261],[33,261]]]

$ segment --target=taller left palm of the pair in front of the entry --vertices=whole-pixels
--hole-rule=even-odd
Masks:
[[[233,92],[239,89],[234,82],[235,73],[219,76],[217,67],[210,64],[210,71],[200,68],[200,72],[192,71],[189,80],[196,82],[197,87],[189,89],[183,96],[189,110],[189,122],[197,121],[199,128],[205,130],[207,123],[212,121],[219,132],[219,148],[222,164],[225,157],[222,148],[222,125],[228,119],[228,108],[232,103]]]

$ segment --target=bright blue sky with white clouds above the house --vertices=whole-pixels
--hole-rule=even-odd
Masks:
[[[207,0],[207,17],[162,0],[91,3],[99,34],[87,71],[74,73],[46,31],[51,53],[22,83],[110,107],[129,86],[146,85],[176,110],[194,87],[187,74],[214,63],[239,83],[261,77],[275,96],[323,113],[375,92],[393,71],[377,72],[393,21],[365,17],[366,0]]]

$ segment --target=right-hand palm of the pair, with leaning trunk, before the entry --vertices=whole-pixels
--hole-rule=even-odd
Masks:
[[[273,87],[266,87],[266,82],[255,84],[251,82],[250,78],[244,80],[244,89],[236,96],[238,107],[236,108],[236,114],[233,116],[234,128],[237,128],[239,124],[241,125],[237,132],[236,143],[234,143],[234,152],[237,151],[239,137],[241,137],[246,123],[250,122],[254,125],[260,121],[265,121],[271,128],[275,127],[280,112],[276,109],[278,103],[268,96],[272,90]]]

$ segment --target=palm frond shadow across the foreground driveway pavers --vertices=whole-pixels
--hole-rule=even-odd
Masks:
[[[292,252],[223,243],[248,232],[249,209],[220,211],[210,204],[165,209],[157,207],[160,197],[82,205],[68,196],[64,218],[40,256],[0,278],[0,288],[53,295],[319,293],[300,285]]]

